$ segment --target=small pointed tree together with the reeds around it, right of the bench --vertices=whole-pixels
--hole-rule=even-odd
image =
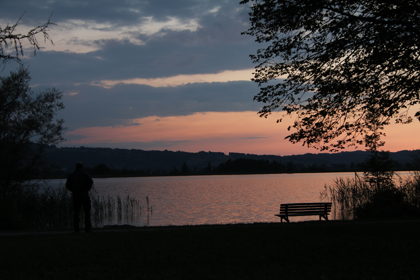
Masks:
[[[330,187],[331,198],[340,204],[342,211],[351,210],[358,218],[401,217],[420,215],[420,180],[415,172],[407,180],[396,181],[391,167],[394,161],[388,151],[378,151],[385,142],[381,141],[381,126],[378,114],[368,112],[368,126],[371,134],[365,134],[364,141],[370,155],[360,167],[362,177],[337,179]]]

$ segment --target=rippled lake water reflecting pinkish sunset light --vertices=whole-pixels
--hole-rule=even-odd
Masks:
[[[148,196],[152,211],[104,220],[106,224],[196,225],[237,222],[279,222],[281,203],[319,202],[320,191],[337,177],[354,173],[209,175],[135,178],[96,178],[99,195],[139,199]],[[65,180],[62,180],[65,182]],[[52,180],[58,186],[60,180]],[[331,215],[332,216],[332,215]],[[318,220],[291,217],[291,221]]]

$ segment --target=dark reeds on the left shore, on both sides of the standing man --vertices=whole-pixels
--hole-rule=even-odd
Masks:
[[[138,215],[150,212],[149,196],[146,206],[140,205],[140,200],[117,195],[99,195],[95,185],[89,192],[91,200],[92,225],[98,227],[115,220],[135,220]],[[115,205],[116,204],[116,205]],[[34,190],[22,195],[15,205],[13,220],[4,229],[46,228],[68,229],[73,227],[72,194],[60,182],[57,188],[46,187],[42,191]],[[84,227],[84,211],[80,211],[81,227]]]

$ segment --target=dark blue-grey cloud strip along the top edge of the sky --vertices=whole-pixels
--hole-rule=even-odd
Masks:
[[[217,13],[244,10],[246,6],[239,5],[239,0],[14,0],[3,1],[0,17],[9,23],[14,23],[25,11],[21,23],[39,25],[53,12],[52,21],[68,20],[94,21],[100,24],[111,24],[111,28],[121,26],[138,26],[145,21],[145,17],[153,17],[156,21],[168,21],[169,18],[179,18],[181,21],[202,18],[213,15],[209,11],[221,7]],[[232,8],[235,10],[232,10]]]

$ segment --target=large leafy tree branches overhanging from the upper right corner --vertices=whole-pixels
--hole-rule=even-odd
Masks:
[[[407,108],[420,100],[419,1],[251,2],[251,28],[242,34],[265,46],[250,55],[262,86],[254,100],[267,104],[260,117],[297,114],[289,141],[330,151],[362,144],[373,105],[381,125],[412,121]]]

